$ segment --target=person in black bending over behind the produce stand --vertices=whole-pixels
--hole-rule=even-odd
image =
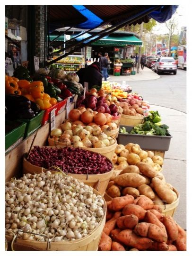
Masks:
[[[98,61],[93,62],[86,68],[79,69],[76,74],[79,76],[79,83],[81,83],[83,87],[84,82],[88,82],[88,88],[91,88],[93,85],[102,85],[102,73]]]

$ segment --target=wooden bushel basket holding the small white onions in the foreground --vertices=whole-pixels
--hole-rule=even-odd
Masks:
[[[94,190],[94,193],[96,193],[97,195],[99,194],[96,190]],[[17,247],[17,250],[25,250],[26,247],[31,247],[33,248],[33,250],[42,251],[96,251],[98,249],[98,244],[102,235],[102,230],[105,226],[105,219],[106,202],[104,204],[104,216],[100,220],[100,223],[98,224],[96,229],[94,229],[85,238],[65,242],[42,242],[33,240],[23,240],[21,238],[17,238],[17,241],[15,242],[15,247],[13,243],[13,248]],[[12,237],[6,235],[6,238],[8,240],[8,243],[11,243]]]

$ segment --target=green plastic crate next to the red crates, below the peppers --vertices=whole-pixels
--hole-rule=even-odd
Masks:
[[[44,110],[41,110],[39,114],[37,114],[32,119],[19,119],[23,122],[26,122],[26,131],[25,131],[24,138],[30,136],[33,132],[35,132],[38,128],[41,127],[43,116],[44,116]]]

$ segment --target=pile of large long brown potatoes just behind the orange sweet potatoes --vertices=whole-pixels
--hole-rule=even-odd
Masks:
[[[126,194],[138,198],[142,195],[154,201],[154,204],[170,204],[176,201],[177,194],[171,184],[166,183],[163,174],[145,162],[128,165],[122,171],[114,171],[106,189],[108,197],[115,198]]]

